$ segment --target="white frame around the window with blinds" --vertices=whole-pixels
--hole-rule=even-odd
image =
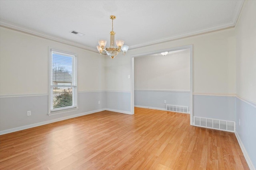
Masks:
[[[51,109],[51,106],[52,106],[51,89],[52,89],[52,86],[55,86],[55,85],[52,85],[52,52],[62,53],[64,55],[73,57],[73,59],[72,59],[72,85],[71,86],[76,89],[75,90],[76,92],[72,93],[73,100],[76,100],[76,106],[60,107],[58,109],[53,109],[53,110]],[[71,53],[71,52],[48,47],[48,115],[49,116],[78,110],[77,56],[78,55],[76,53]],[[73,85],[73,83],[74,83],[74,85]]]

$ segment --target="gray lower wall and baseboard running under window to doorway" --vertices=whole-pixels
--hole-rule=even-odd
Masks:
[[[48,95],[6,96],[0,98],[0,134],[69,119],[101,110],[130,114],[130,92],[78,92],[78,108],[48,115]],[[98,104],[100,101],[100,104]],[[27,111],[32,115],[27,116]]]

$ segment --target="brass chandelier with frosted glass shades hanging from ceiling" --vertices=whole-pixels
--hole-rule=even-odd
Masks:
[[[113,31],[113,20],[116,19],[116,16],[110,16],[109,17],[112,20],[112,31],[110,31],[110,47],[109,48],[105,48],[107,41],[104,39],[100,39],[98,41],[99,45],[97,45],[97,49],[100,52],[100,54],[104,53],[104,51],[106,51],[107,55],[114,59],[119,52],[121,52],[123,55],[125,55],[126,51],[128,50],[128,46],[124,45],[124,41],[123,40],[116,40],[116,46],[118,48],[115,47],[114,45],[114,41],[115,41],[115,32]]]

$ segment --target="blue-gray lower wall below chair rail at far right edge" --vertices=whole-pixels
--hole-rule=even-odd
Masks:
[[[256,106],[236,98],[236,122],[236,134],[256,168]]]

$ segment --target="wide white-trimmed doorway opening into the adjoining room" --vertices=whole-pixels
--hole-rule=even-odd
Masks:
[[[163,52],[168,52],[168,54],[166,56],[161,56],[160,53],[163,53]],[[186,66],[188,66],[189,64],[189,68],[184,67],[182,68],[183,70],[179,70],[176,64],[177,65],[184,64],[182,63],[183,62],[182,60],[184,60],[185,58],[183,57],[182,59],[181,57],[182,54],[183,56],[186,55],[189,58],[186,61]],[[180,58],[178,58],[179,56]],[[166,57],[166,58],[164,59],[163,57]],[[182,47],[175,47],[170,49],[162,49],[158,51],[151,51],[147,53],[136,54],[136,55],[132,55],[131,60],[132,60],[131,61],[132,62],[131,113],[134,114],[134,106],[143,107],[143,105],[147,105],[147,108],[166,110],[165,106],[168,104],[176,104],[176,105],[184,104],[184,105],[188,105],[189,107],[190,125],[192,125],[193,124],[192,45],[186,45]],[[134,60],[136,61],[135,65],[134,65]],[[145,63],[143,68],[139,68],[138,64],[143,62],[147,62],[148,65]],[[150,70],[150,67],[153,66],[154,62],[160,62],[160,63],[166,62],[166,63],[161,63],[160,65],[158,65],[158,66],[161,66],[162,68],[158,68],[158,69],[152,68],[152,70]],[[166,69],[168,68],[165,68],[165,67],[168,66],[168,62],[170,63],[169,67],[174,69],[174,72],[170,70],[170,72],[166,73]],[[176,62],[176,63],[173,63],[173,62]],[[178,70],[179,73],[176,72],[175,69]],[[139,73],[140,71],[142,72]],[[157,72],[154,73],[154,71],[157,71]],[[184,73],[184,71],[186,71],[187,73]],[[177,74],[175,74],[175,72]],[[136,76],[134,73],[136,73]],[[155,74],[158,74],[158,75],[155,75]],[[165,74],[164,77],[161,76],[162,74]],[[177,79],[177,76],[186,76],[186,78],[184,77],[184,81],[183,81],[182,77],[180,77],[181,82],[176,82],[179,79],[179,78]],[[164,80],[165,78],[167,80]],[[147,82],[145,83],[145,81]],[[162,83],[161,81],[164,83]],[[136,84],[134,84],[134,82]],[[134,88],[134,85],[136,88]],[[159,88],[159,89],[156,89],[156,88]],[[141,98],[141,96],[150,96],[150,97]],[[164,96],[166,100],[163,100],[164,98],[162,96]],[[136,100],[136,104],[135,104],[135,100]],[[150,107],[150,106],[157,106],[157,107]]]

